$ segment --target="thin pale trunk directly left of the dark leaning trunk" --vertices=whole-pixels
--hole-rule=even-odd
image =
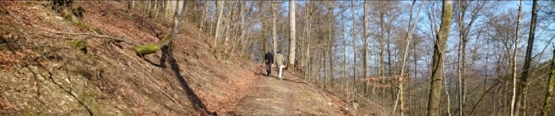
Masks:
[[[515,29],[515,39],[514,39],[514,43],[513,43],[513,56],[511,58],[512,60],[512,76],[513,76],[513,89],[512,89],[512,93],[513,96],[511,98],[511,111],[509,113],[511,113],[511,116],[514,116],[514,104],[516,101],[516,96],[517,96],[517,54],[518,54],[518,44],[520,41],[520,20],[521,20],[521,15],[522,15],[522,0],[520,1],[520,4],[518,5],[518,15],[517,15],[517,29]]]

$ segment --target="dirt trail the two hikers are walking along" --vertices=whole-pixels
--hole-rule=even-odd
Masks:
[[[262,64],[258,64],[262,65]],[[274,69],[274,68],[273,68]],[[345,115],[341,102],[284,70],[284,80],[277,71],[259,75],[251,94],[241,98],[228,115]]]

